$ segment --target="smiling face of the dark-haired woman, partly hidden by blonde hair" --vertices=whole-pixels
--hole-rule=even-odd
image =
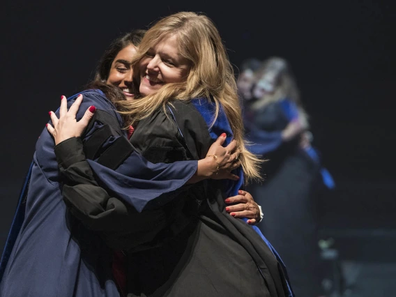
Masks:
[[[126,100],[132,100],[132,66],[131,61],[136,54],[135,45],[128,45],[114,58],[106,83],[118,86],[124,93]]]

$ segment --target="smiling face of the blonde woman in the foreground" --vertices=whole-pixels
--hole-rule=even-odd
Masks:
[[[155,93],[164,84],[183,82],[190,70],[188,59],[178,52],[176,36],[165,37],[151,47],[139,62],[142,95]]]

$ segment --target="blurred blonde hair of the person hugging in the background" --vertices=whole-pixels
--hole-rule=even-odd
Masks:
[[[257,98],[258,100],[254,102],[251,108],[256,110],[261,109],[271,102],[287,98],[296,103],[300,121],[303,123],[304,128],[309,128],[308,115],[300,100],[300,92],[289,63],[278,56],[272,56],[266,59],[261,68],[254,73],[254,81],[256,83],[259,82],[268,73],[271,73],[275,77],[275,90],[272,93],[264,94],[262,98]]]

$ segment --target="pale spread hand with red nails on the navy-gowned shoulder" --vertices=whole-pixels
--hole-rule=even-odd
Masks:
[[[54,112],[50,112],[53,126],[50,123],[47,123],[47,130],[54,137],[55,145],[72,137],[80,137],[89,121],[92,119],[92,116],[96,111],[96,107],[93,105],[86,109],[82,119],[79,121],[76,119],[82,98],[82,94],[79,94],[68,110],[66,97],[62,96],[61,107],[59,109],[59,119]]]

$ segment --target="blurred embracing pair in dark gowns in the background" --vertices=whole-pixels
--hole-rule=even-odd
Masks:
[[[296,296],[323,296],[318,246],[319,189],[334,182],[312,147],[307,112],[289,63],[266,59],[254,73],[250,100],[244,100],[250,150],[267,162],[264,182],[248,186],[264,209],[259,225],[287,264]]]

